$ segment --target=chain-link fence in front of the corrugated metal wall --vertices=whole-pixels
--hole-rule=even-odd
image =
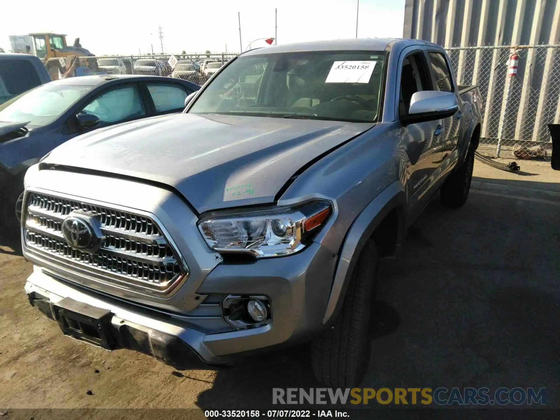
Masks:
[[[500,157],[549,157],[548,125],[560,123],[560,45],[447,48],[459,85],[483,97],[479,152]],[[508,76],[510,57],[517,75]]]

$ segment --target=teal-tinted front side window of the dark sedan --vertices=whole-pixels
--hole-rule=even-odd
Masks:
[[[146,115],[136,86],[111,89],[97,96],[82,112],[97,116],[101,123],[116,123]]]

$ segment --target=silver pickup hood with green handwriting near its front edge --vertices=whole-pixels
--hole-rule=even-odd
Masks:
[[[302,166],[374,123],[170,114],[83,134],[44,160],[163,183],[199,212],[274,202]]]

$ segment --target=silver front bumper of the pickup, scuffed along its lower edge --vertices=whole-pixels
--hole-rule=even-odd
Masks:
[[[31,304],[51,319],[55,318],[53,305],[64,298],[109,310],[114,348],[150,354],[175,367],[188,366],[194,354],[206,363],[230,364],[255,351],[309,340],[319,332],[336,262],[332,252],[313,243],[285,258],[218,265],[200,285],[200,294],[266,295],[271,304],[268,323],[218,333],[200,328],[196,317],[179,320],[161,310],[117,301],[38,266],[27,279],[25,291]]]

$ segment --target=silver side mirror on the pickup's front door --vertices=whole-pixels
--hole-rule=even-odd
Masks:
[[[459,104],[454,92],[416,92],[410,99],[408,114],[403,115],[400,120],[403,124],[422,123],[447,118],[458,110]]]

